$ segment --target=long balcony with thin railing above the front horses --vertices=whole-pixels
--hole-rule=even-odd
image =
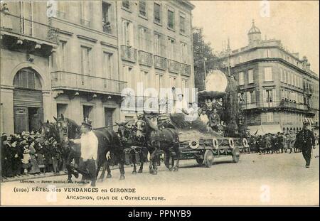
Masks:
[[[53,90],[65,89],[119,95],[127,87],[127,82],[73,72],[56,71],[51,72],[51,87]]]

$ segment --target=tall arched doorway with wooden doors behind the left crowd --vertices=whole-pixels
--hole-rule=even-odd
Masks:
[[[36,131],[43,120],[41,77],[31,68],[18,70],[14,77],[14,132]]]

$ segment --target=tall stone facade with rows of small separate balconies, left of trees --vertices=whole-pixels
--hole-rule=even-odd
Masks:
[[[117,1],[119,70],[132,89],[132,102],[123,105],[122,118],[132,119],[142,108],[161,112],[161,88],[194,87],[193,8],[189,1]],[[142,106],[152,98],[156,102]],[[194,96],[186,99],[191,102]]]

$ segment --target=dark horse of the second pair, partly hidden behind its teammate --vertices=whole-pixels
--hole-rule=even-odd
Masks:
[[[129,121],[121,123],[116,122],[116,124],[119,126],[118,135],[120,143],[124,147],[124,151],[129,153],[129,156],[131,157],[134,166],[132,173],[137,173],[137,158],[139,158],[140,162],[140,168],[138,173],[142,173],[144,168],[144,162],[146,161],[148,154],[148,148],[144,139],[137,139],[137,136],[135,135],[137,128],[134,125],[132,125],[133,127],[128,126],[128,123]]]

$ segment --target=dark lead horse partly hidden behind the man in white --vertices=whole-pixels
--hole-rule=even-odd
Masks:
[[[63,117],[63,114],[55,120],[58,124],[58,131],[60,136],[60,141],[62,142],[63,149],[68,153],[68,160],[66,162],[68,169],[68,182],[71,182],[72,174],[77,177],[77,168],[71,166],[72,161],[75,161],[75,165],[79,165],[79,160],[81,156],[80,145],[69,142],[69,139],[79,139],[81,132],[80,126],[76,124],[72,119]],[[107,161],[107,153],[114,153],[114,156],[119,162],[120,180],[124,179],[124,152],[119,143],[117,134],[112,129],[94,129],[93,132],[98,139],[98,151],[97,151],[97,173],[100,171],[101,166]],[[103,171],[105,172],[105,170]],[[110,168],[108,169],[110,173]],[[104,173],[101,174],[100,179],[103,179]]]

